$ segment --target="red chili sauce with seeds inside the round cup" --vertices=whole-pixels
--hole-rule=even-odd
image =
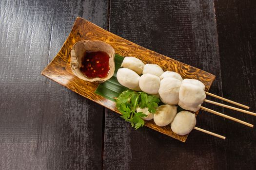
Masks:
[[[103,51],[85,52],[80,70],[88,78],[104,78],[109,72],[109,55]]]

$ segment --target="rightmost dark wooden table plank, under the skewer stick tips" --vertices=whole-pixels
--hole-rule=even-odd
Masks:
[[[256,112],[256,2],[216,0],[223,95]],[[225,113],[255,124],[256,117],[229,109]],[[256,169],[256,132],[227,122],[227,169]]]

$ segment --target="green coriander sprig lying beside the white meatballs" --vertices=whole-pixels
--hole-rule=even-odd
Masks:
[[[144,120],[141,118],[147,115],[137,112],[137,107],[147,107],[150,113],[155,113],[160,100],[156,96],[149,95],[145,92],[126,90],[119,95],[116,102],[116,106],[122,114],[121,118],[130,122],[135,129],[138,129],[144,125]]]

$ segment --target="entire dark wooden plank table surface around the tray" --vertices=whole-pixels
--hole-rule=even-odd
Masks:
[[[40,75],[84,17],[215,74],[212,93],[256,112],[255,9],[255,0],[0,0],[0,170],[255,170],[255,128],[200,112],[197,126],[227,139],[192,131],[182,143],[135,131]]]

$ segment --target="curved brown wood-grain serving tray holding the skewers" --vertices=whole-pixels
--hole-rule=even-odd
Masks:
[[[81,17],[78,17],[74,23],[71,33],[59,53],[51,63],[44,68],[41,74],[60,85],[64,85],[70,90],[117,112],[118,114],[120,113],[116,108],[115,102],[94,93],[99,83],[83,81],[72,73],[70,68],[70,50],[72,46],[80,40],[104,41],[110,44],[115,49],[115,53],[121,56],[134,56],[145,63],[158,64],[164,71],[175,71],[179,73],[182,78],[200,80],[205,85],[205,91],[210,89],[215,79],[213,74],[143,48],[133,42],[119,37],[118,35],[112,34]],[[174,137],[182,142],[185,142],[188,136],[179,136],[173,133],[171,126],[159,127],[153,120],[145,122],[145,126],[165,135]]]

